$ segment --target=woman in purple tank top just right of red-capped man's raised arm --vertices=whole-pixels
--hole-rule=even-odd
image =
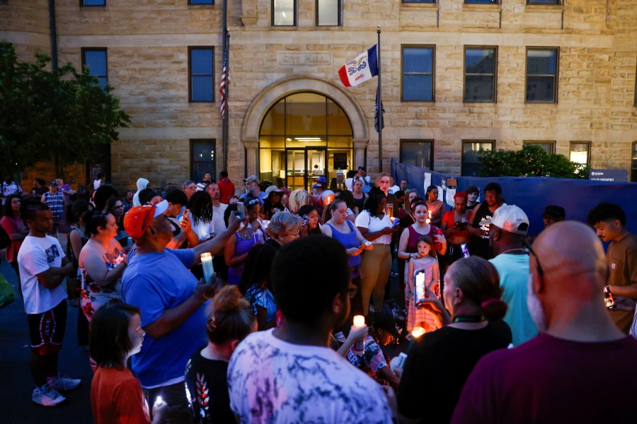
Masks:
[[[245,262],[248,258],[248,252],[254,245],[263,242],[263,229],[258,223],[261,201],[257,197],[251,197],[246,199],[243,204],[246,210],[246,223],[252,223],[253,225],[241,223],[239,231],[234,233],[234,237],[228,239],[224,247],[224,259],[228,266],[228,284],[230,285],[239,285]],[[236,212],[236,210],[236,204],[226,208],[224,212],[226,226],[228,225],[230,212]]]

